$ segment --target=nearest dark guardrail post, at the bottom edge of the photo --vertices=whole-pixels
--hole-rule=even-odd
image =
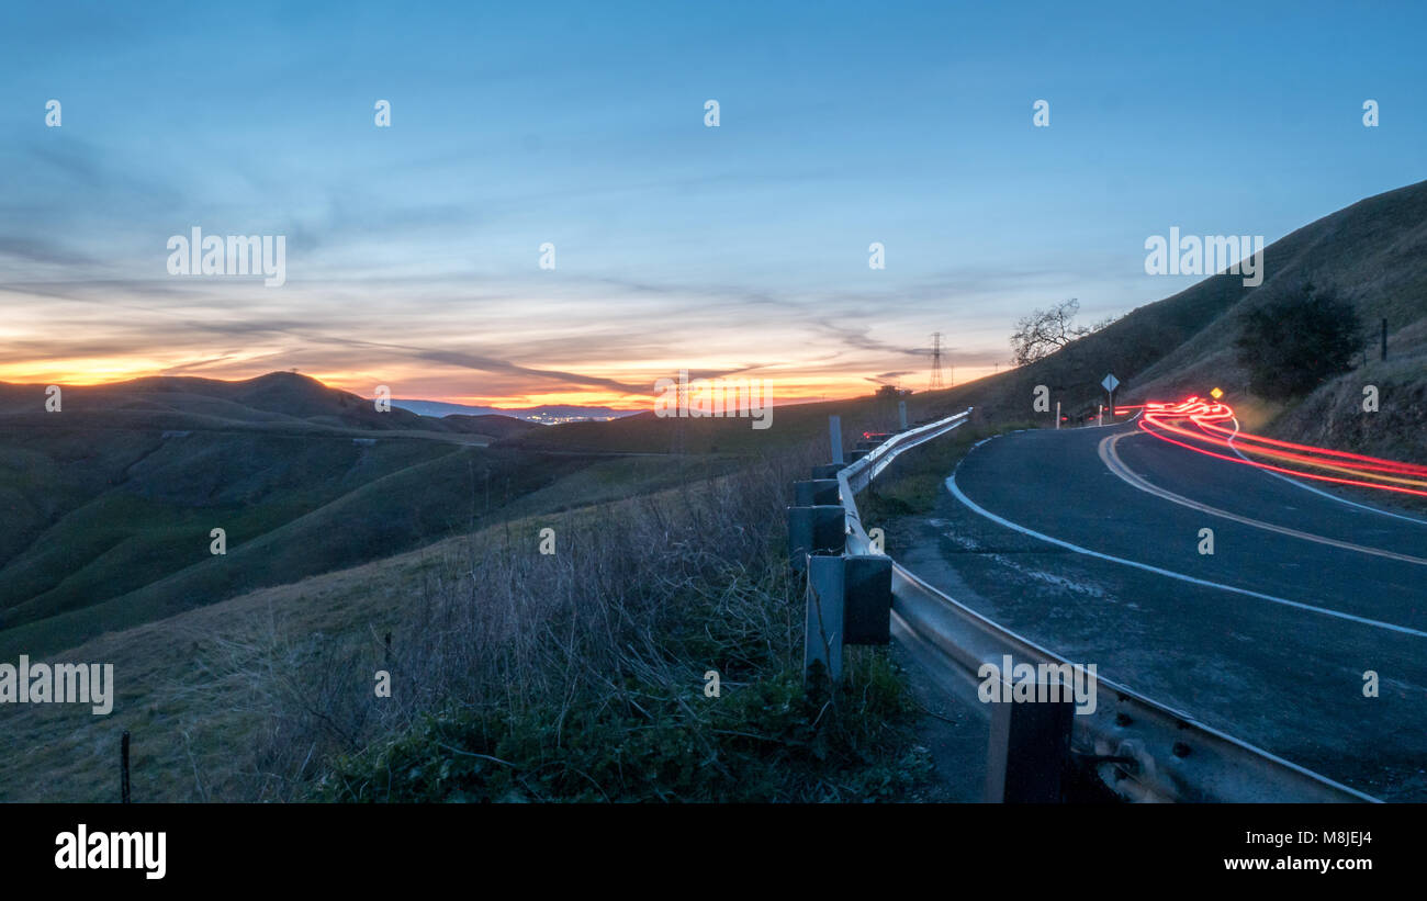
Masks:
[[[1009,673],[1002,674],[1009,680]],[[1010,697],[1010,684],[997,686]],[[1036,697],[1052,697],[1050,686],[1035,686]],[[1070,763],[1070,686],[1059,686],[1059,701],[992,703],[986,758],[987,804],[1059,804]]]

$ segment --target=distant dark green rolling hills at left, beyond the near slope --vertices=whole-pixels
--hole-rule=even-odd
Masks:
[[[11,654],[721,466],[641,458],[615,468],[605,455],[471,443],[475,428],[547,428],[504,416],[441,423],[457,436],[445,441],[435,421],[395,409],[388,421],[288,374],[71,389],[60,413],[16,412],[36,396],[7,386],[0,431],[0,653]],[[221,429],[158,428],[217,413]],[[405,421],[421,428],[385,428]],[[218,527],[223,556],[210,553]]]

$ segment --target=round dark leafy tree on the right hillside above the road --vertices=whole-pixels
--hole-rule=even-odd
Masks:
[[[1351,304],[1311,282],[1243,316],[1234,341],[1249,391],[1273,401],[1304,395],[1353,368],[1363,346]]]

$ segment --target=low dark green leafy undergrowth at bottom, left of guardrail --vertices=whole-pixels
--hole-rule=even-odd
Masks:
[[[331,801],[905,800],[930,774],[915,706],[885,650],[849,656],[836,699],[796,667],[706,699],[629,680],[638,703],[431,716],[384,748],[340,758]],[[684,697],[681,697],[681,694]],[[558,726],[557,726],[558,724]]]

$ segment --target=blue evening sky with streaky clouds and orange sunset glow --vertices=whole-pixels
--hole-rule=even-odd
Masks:
[[[960,383],[1035,308],[1199,281],[1150,235],[1271,242],[1427,177],[1423,4],[1087,6],[7,4],[0,381],[920,391],[933,332]],[[285,282],[171,274],[194,227],[281,235]]]

